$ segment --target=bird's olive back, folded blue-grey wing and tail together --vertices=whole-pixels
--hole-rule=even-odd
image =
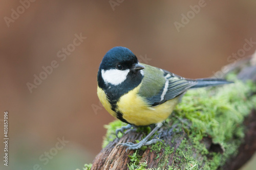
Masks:
[[[147,88],[141,88],[142,90],[140,90],[140,94],[144,96],[150,106],[157,106],[168,100],[174,99],[189,88],[232,83],[224,79],[185,79],[179,75],[157,67],[148,66],[146,64],[144,64],[144,66],[148,69],[148,75],[144,82],[142,80],[142,86]],[[154,82],[154,86],[147,86],[150,82]]]

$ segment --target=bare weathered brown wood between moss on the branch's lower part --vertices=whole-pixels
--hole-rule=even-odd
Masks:
[[[220,169],[230,169],[235,170],[239,169],[243,164],[245,164],[256,151],[256,111],[252,110],[250,115],[245,119],[244,122],[247,130],[245,133],[245,142],[241,144],[239,148],[239,154],[229,160],[223,167]],[[140,140],[143,136],[143,133],[138,133],[136,131],[131,131],[123,135],[121,139],[115,139],[111,142],[106,148],[96,156],[93,161],[93,166],[91,170],[96,169],[129,169],[127,164],[130,163],[130,157],[135,151],[125,152],[125,147],[116,147],[117,144],[122,142]],[[168,162],[162,166],[163,169],[167,169],[168,165],[179,164],[174,158],[175,151],[179,147],[183,138],[187,137],[185,132],[179,133],[179,135],[172,133],[172,130],[162,128],[161,132],[158,135],[164,142],[169,145],[171,148],[174,147],[174,152],[170,155],[165,155],[163,149],[156,153],[151,152],[151,147],[148,147],[145,151],[141,151],[139,155],[142,155],[140,162],[146,160],[147,168],[157,167],[160,162]],[[175,138],[174,138],[175,136]],[[222,152],[220,146],[212,143],[211,139],[206,137],[202,140],[206,145],[206,148],[209,152]],[[200,155],[196,155],[200,159]],[[157,159],[156,159],[157,158]],[[181,157],[180,159],[183,159]],[[210,159],[210,158],[209,158]],[[185,165],[184,165],[185,166]]]

